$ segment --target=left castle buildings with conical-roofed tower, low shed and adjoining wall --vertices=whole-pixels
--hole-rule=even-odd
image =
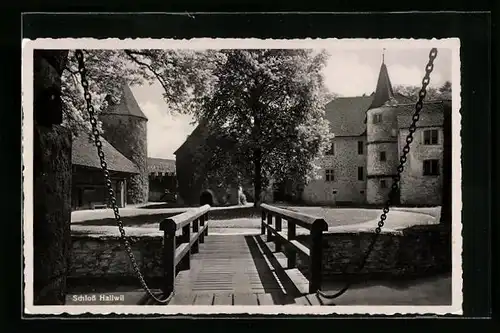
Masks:
[[[105,161],[118,207],[162,201],[177,189],[175,161],[148,157],[147,117],[130,87],[123,87],[119,103],[108,99],[100,114]],[[72,144],[72,209],[105,208],[108,193],[93,139],[80,133]]]

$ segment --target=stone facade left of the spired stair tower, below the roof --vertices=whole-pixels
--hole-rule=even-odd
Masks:
[[[358,141],[363,142],[363,154],[358,154]],[[302,199],[310,204],[335,204],[337,201],[364,203],[366,137],[336,137],[334,143],[335,154],[326,155],[322,160],[321,179],[312,180],[305,186]],[[358,167],[363,167],[363,180],[358,180]],[[326,181],[326,169],[334,170],[334,181]]]

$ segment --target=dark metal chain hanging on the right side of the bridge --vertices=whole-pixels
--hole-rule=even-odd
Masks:
[[[434,69],[434,59],[436,59],[437,56],[437,49],[433,48],[429,52],[429,62],[427,63],[427,66],[425,67],[425,76],[422,79],[422,88],[420,89],[419,92],[419,98],[417,103],[415,104],[415,113],[413,114],[412,117],[412,123],[408,129],[409,134],[406,137],[406,144],[403,147],[403,153],[399,158],[399,166],[397,168],[397,174],[393,176],[392,180],[392,187],[391,191],[389,192],[389,198],[385,202],[384,209],[382,212],[382,215],[380,215],[380,220],[377,224],[377,227],[375,228],[375,234],[373,236],[373,239],[368,246],[368,250],[366,251],[365,255],[361,259],[361,262],[356,270],[356,273],[359,273],[365,266],[366,261],[368,260],[368,257],[370,256],[371,252],[373,251],[373,248],[375,246],[375,243],[377,242],[378,236],[380,235],[380,232],[382,231],[382,228],[384,227],[385,220],[387,219],[387,214],[389,213],[389,207],[391,204],[395,201],[395,197],[397,195],[397,191],[399,189],[399,183],[401,181],[401,174],[403,173],[404,170],[404,165],[407,161],[407,155],[410,152],[410,145],[413,142],[413,134],[417,130],[417,122],[420,119],[420,111],[422,111],[423,107],[423,101],[425,96],[427,95],[427,86],[429,85],[430,82],[430,74],[432,73],[432,70]],[[347,274],[347,269],[343,274]],[[340,291],[336,292],[333,295],[326,294],[325,292],[318,290],[317,295],[326,298],[326,299],[335,299],[341,295],[343,295],[353,284],[353,281],[349,281]]]

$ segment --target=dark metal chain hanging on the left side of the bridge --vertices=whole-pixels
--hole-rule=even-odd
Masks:
[[[115,197],[115,192],[113,190],[113,184],[111,182],[111,177],[109,174],[108,170],[108,165],[105,161],[104,158],[104,152],[102,150],[102,142],[100,139],[100,134],[99,134],[99,129],[97,128],[97,117],[95,114],[95,109],[92,106],[92,97],[89,92],[89,83],[87,81],[87,71],[85,69],[85,64],[84,64],[84,59],[83,59],[83,52],[81,50],[76,50],[75,51],[75,56],[78,61],[78,72],[80,73],[81,77],[81,84],[83,86],[83,96],[85,98],[86,104],[87,104],[87,111],[89,113],[89,118],[90,118],[90,124],[92,125],[92,134],[94,136],[94,142],[97,147],[97,155],[99,156],[100,162],[101,162],[101,168],[104,173],[104,178],[106,182],[106,187],[108,189],[108,195],[109,195],[109,202],[111,203],[114,215],[115,215],[115,220],[116,224],[118,225],[118,229],[120,230],[120,236],[123,242],[123,245],[125,246],[125,251],[127,252],[128,257],[130,258],[130,262],[132,263],[132,267],[135,271],[135,274],[139,278],[139,282],[141,283],[141,286],[146,292],[153,298],[158,303],[166,304],[168,303],[174,293],[172,292],[166,299],[159,299],[156,297],[151,289],[149,289],[148,285],[146,284],[146,281],[144,280],[144,277],[141,273],[141,270],[139,268],[139,265],[137,264],[137,261],[135,260],[134,253],[132,252],[132,248],[130,247],[130,242],[127,239],[127,236],[125,235],[125,230],[123,228],[123,222],[120,217],[120,212],[118,211],[118,206],[116,204],[116,197]]]

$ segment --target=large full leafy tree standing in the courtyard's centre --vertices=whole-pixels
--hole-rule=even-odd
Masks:
[[[331,139],[324,119],[327,55],[276,49],[222,53],[214,93],[202,109],[210,135],[223,142],[212,151],[210,170],[251,177],[258,206],[271,179],[316,176],[316,162]]]

